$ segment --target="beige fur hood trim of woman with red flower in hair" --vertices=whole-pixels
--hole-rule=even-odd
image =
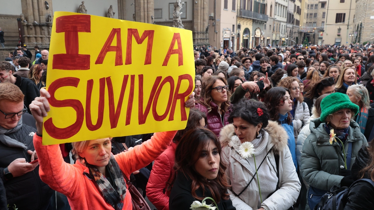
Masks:
[[[286,130],[278,124],[276,121],[269,120],[269,124],[265,128],[265,131],[269,134],[269,143],[270,148],[274,146],[275,151],[282,151],[288,146],[288,135]],[[231,141],[232,145],[236,145],[239,142],[237,138],[232,138],[235,135],[233,124],[228,124],[221,129],[220,132],[220,142],[221,146],[224,147]],[[235,140],[234,140],[235,139]],[[234,142],[235,141],[235,142]],[[268,147],[269,147],[268,146]],[[270,149],[269,148],[269,149]]]

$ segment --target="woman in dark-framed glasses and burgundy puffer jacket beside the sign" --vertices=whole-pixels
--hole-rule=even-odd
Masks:
[[[208,129],[217,136],[221,128],[229,124],[227,119],[231,109],[229,101],[231,92],[224,78],[210,76],[203,82],[200,100],[195,107],[206,114]]]

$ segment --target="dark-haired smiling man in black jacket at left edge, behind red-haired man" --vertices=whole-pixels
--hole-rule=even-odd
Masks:
[[[28,78],[23,78],[19,75],[13,75],[14,68],[9,62],[0,62],[0,83],[12,83],[21,89],[25,95],[24,104],[28,113],[31,113],[28,106],[36,97],[40,96],[40,92],[36,84]]]

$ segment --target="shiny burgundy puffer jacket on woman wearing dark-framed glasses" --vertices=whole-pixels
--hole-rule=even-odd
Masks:
[[[208,121],[208,129],[215,133],[218,137],[220,136],[220,131],[223,126],[229,124],[229,115],[231,111],[231,107],[229,110],[224,114],[223,124],[221,120],[221,115],[218,113],[218,106],[214,102],[210,103],[212,107],[212,111],[208,112],[208,108],[206,106],[197,103],[195,108],[199,109],[200,111],[206,114],[206,120]]]

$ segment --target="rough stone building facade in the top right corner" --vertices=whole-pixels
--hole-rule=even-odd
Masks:
[[[374,41],[374,1],[373,0],[357,0],[355,19],[353,20],[353,40],[358,43]],[[352,36],[350,36],[352,37]]]

